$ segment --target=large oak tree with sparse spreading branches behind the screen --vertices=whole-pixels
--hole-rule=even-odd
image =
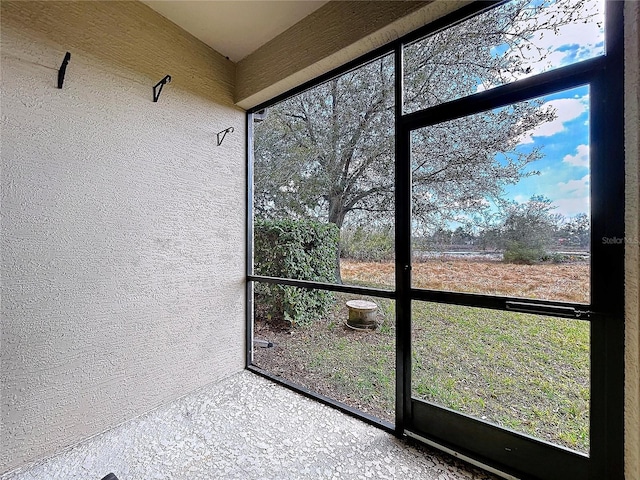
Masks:
[[[582,0],[514,0],[405,49],[405,111],[536,73],[549,52],[536,39],[592,12]],[[289,98],[255,124],[255,213],[317,218],[342,228],[390,223],[394,208],[392,56]],[[516,148],[555,118],[532,100],[417,130],[412,136],[413,214],[446,224],[499,202],[541,158]]]

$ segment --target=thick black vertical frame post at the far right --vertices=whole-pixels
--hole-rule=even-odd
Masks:
[[[591,479],[624,478],[624,2],[605,3],[605,70],[591,84]]]

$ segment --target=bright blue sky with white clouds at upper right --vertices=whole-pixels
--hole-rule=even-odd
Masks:
[[[571,4],[575,0],[559,0]],[[592,21],[579,22],[561,28],[555,34],[545,33],[532,43],[547,52],[544,60],[532,57],[532,73],[568,65],[604,52],[602,30],[603,5],[592,0],[585,9],[596,12]],[[553,15],[555,6],[547,15]],[[502,50],[500,52],[500,50]],[[497,47],[496,54],[506,54]],[[519,149],[542,148],[544,158],[531,164],[528,170],[540,175],[523,179],[505,191],[511,200],[526,202],[532,195],[544,195],[553,201],[555,213],[567,217],[589,211],[589,87],[582,86],[543,98],[557,115],[552,121],[538,126],[521,138]]]

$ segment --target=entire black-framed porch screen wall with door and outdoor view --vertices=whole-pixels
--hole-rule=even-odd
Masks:
[[[569,3],[469,6],[250,111],[251,370],[516,476],[608,468],[619,12]]]

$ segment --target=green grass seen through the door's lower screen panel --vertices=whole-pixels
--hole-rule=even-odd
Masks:
[[[574,449],[589,446],[589,324],[414,302],[414,397]]]

